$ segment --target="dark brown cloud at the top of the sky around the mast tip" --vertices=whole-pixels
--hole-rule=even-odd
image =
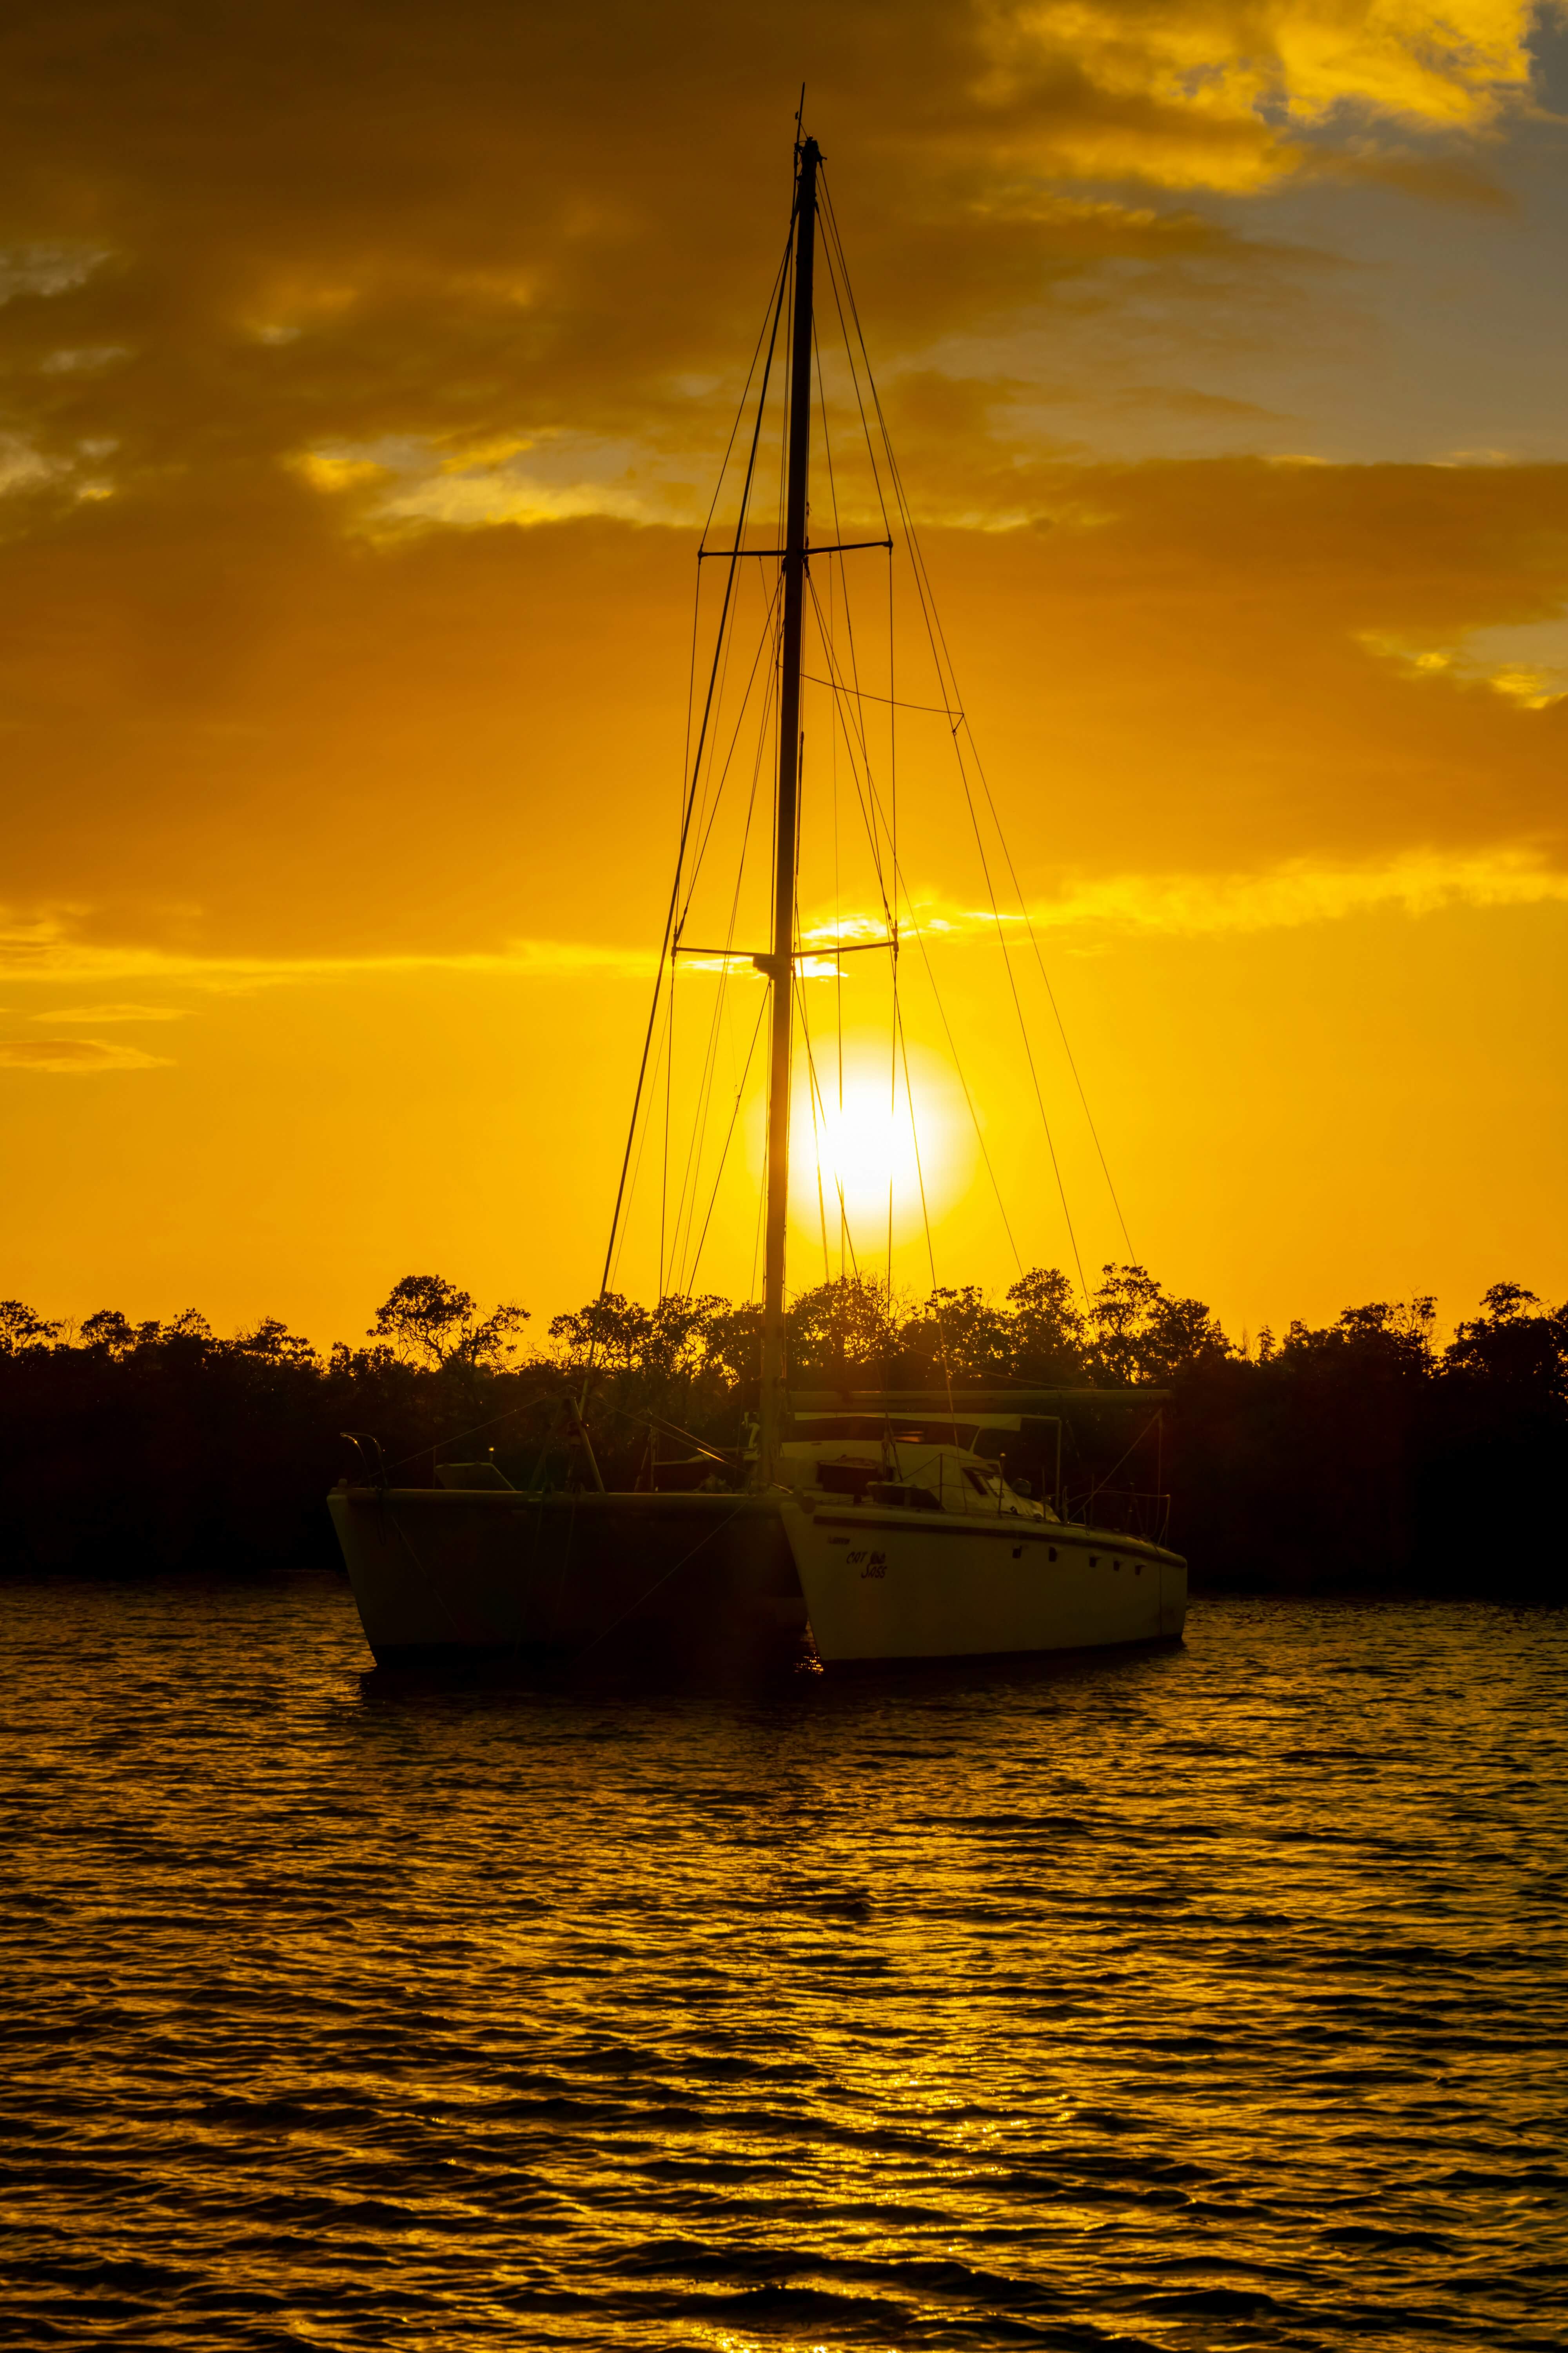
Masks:
[[[1281,19],[1190,9],[1215,66],[1279,52]],[[0,31],[0,231],[103,259],[5,308],[5,409],[73,480],[82,442],[115,442],[89,468],[148,492],[320,438],[571,424],[703,445],[724,400],[693,412],[668,379],[729,393],[750,346],[802,75],[884,355],[1114,261],[1208,294],[1218,268],[1229,294],[1284,256],[1187,202],[1060,193],[1284,165],[1267,75],[1185,94],[1180,24],[952,0],[21,5]],[[1361,127],[1333,155],[1378,148]],[[101,360],[49,372],[61,351]]]

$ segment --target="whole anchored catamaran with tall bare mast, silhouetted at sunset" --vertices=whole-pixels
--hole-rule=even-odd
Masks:
[[[1143,1529],[1093,1525],[1063,1508],[1060,1475],[1051,1499],[1006,1475],[1009,1433],[1034,1417],[1053,1419],[1060,1435],[1067,1393],[959,1393],[950,1381],[929,1395],[790,1391],[785,1242],[792,1056],[799,976],[823,953],[820,946],[802,946],[797,913],[802,645],[811,560],[893,544],[886,536],[813,546],[809,536],[820,200],[823,158],[797,122],[790,233],[771,299],[769,344],[771,367],[788,313],[783,544],[755,548],[745,536],[766,402],[764,367],[748,494],[733,546],[722,551],[729,555],[724,614],[731,612],[731,586],[743,562],[762,560],[776,579],[769,640],[776,741],[771,939],[766,948],[738,958],[764,976],[769,991],[762,1384],[752,1442],[733,1459],[710,1449],[701,1487],[614,1492],[599,1473],[581,1402],[574,1402],[578,1475],[567,1487],[520,1489],[489,1459],[437,1464],[435,1487],[400,1487],[381,1471],[343,1480],[329,1508],[364,1635],[381,1666],[663,1652],[686,1664],[797,1661],[813,1654],[830,1668],[875,1659],[1171,1642],[1182,1633],[1187,1565],[1161,1541],[1161,1522]],[[698,739],[696,767],[701,760]],[[665,965],[672,972],[677,955],[693,953],[682,936],[679,904],[677,859],[661,972]],[[872,946],[898,955],[896,911],[889,913],[886,936]],[[736,960],[731,946],[715,953],[724,967]],[[830,953],[849,948],[839,941]],[[639,1094],[646,1068],[644,1042]],[[635,1122],[637,1113],[632,1129]],[[616,1219],[630,1158],[628,1139]],[[609,1273],[607,1257],[604,1287]],[[1112,1395],[1091,1393],[1100,1407]],[[1138,1391],[1133,1402],[1157,1400]]]

